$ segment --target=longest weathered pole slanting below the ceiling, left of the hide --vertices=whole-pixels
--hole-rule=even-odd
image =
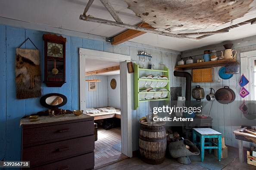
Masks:
[[[94,18],[94,17],[88,16],[88,15],[87,16],[80,15],[80,19],[84,20],[84,21],[96,22],[99,24],[118,26],[118,27],[127,28],[127,29],[131,29],[131,30],[140,30],[140,31],[144,31],[147,33],[154,33],[154,34],[163,35],[163,36],[170,36],[170,37],[175,37],[175,38],[180,38],[180,39],[189,39],[189,40],[198,41],[198,39],[189,37],[189,36],[178,35],[178,34],[168,33],[168,32],[159,31],[159,30],[152,30],[152,29],[148,29],[148,28],[144,28],[144,27],[138,27],[137,25],[124,24],[124,23],[119,23],[119,22],[110,21],[110,20],[106,20],[106,19]]]

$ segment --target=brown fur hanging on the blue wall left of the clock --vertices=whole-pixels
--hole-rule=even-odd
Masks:
[[[40,97],[41,69],[39,51],[16,49],[16,97],[26,99]]]

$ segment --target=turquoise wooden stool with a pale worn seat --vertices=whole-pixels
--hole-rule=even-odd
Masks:
[[[200,137],[200,142],[197,142],[197,136]],[[214,143],[212,138],[218,138],[218,143]],[[208,142],[204,140],[208,139]],[[218,149],[218,159],[221,160],[222,157],[222,134],[214,131],[211,128],[193,128],[193,143],[200,146],[201,151],[201,161],[203,162],[204,158],[204,149],[209,149],[209,153],[212,152],[212,149]],[[214,144],[215,146],[212,146]],[[209,145],[209,146],[205,146]]]

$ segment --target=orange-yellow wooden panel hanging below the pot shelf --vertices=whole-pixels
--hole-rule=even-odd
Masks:
[[[214,68],[194,69],[193,82],[214,82]]]

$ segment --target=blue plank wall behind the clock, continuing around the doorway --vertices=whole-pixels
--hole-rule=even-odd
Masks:
[[[37,30],[28,30],[24,28],[10,27],[0,25],[0,160],[17,161],[20,160],[21,152],[21,128],[19,126],[20,118],[35,112],[42,111],[46,108],[39,103],[40,97],[25,100],[16,99],[15,85],[15,49],[26,39],[30,38],[40,51],[41,68],[43,68],[44,60],[44,44],[42,36],[44,33]],[[158,67],[163,62],[170,69],[170,75],[176,64],[178,55],[168,52],[161,52],[157,47],[112,46],[110,43],[98,41],[94,39],[86,39],[80,37],[66,36],[66,83],[61,88],[49,88],[42,84],[42,94],[61,93],[66,95],[68,102],[62,108],[79,109],[79,55],[78,48],[94,49],[104,52],[113,52],[123,55],[130,55],[133,60],[138,61],[137,52],[147,51],[152,54],[152,63]],[[34,48],[27,42],[21,48]],[[145,65],[148,61],[143,62]],[[43,71],[43,70],[42,70]],[[44,72],[42,72],[44,73]],[[133,86],[133,75],[132,86]],[[44,75],[42,75],[42,80]],[[170,76],[171,87],[179,86],[178,78]],[[133,89],[132,89],[133,98]],[[133,106],[133,101],[132,101]],[[132,110],[132,134],[133,134],[133,150],[138,149],[138,119],[145,116],[148,112],[149,104],[143,102],[137,110]]]

